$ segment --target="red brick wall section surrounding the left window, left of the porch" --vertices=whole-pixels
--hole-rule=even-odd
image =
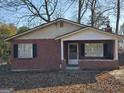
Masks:
[[[12,69],[40,69],[42,71],[57,70],[60,67],[60,42],[51,39],[44,40],[13,40],[13,44],[33,43],[37,44],[37,57],[30,59],[20,59],[13,57],[13,47],[11,48],[11,68]]]

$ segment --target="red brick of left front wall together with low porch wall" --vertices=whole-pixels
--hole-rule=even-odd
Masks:
[[[13,44],[33,43],[37,44],[37,57],[30,59],[20,59],[13,57],[13,47],[11,48],[11,68],[14,70],[32,70],[39,69],[42,71],[58,70],[61,63],[60,42],[52,39],[44,40],[13,40]],[[65,69],[65,61],[62,62],[62,69]],[[118,67],[117,61],[94,61],[80,60],[81,69],[114,69]]]

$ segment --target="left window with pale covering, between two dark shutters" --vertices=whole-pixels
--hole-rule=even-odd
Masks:
[[[32,58],[33,45],[32,44],[18,44],[18,58]]]

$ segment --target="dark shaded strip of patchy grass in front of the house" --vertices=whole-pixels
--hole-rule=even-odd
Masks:
[[[96,72],[10,72],[0,76],[0,87],[46,88],[95,82]]]

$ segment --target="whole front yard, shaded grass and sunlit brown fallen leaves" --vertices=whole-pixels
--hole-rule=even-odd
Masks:
[[[0,73],[0,88],[14,88],[15,93],[124,93],[120,71],[6,72]]]

